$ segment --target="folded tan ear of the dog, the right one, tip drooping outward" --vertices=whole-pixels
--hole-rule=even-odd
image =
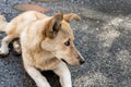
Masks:
[[[75,14],[75,13],[68,13],[68,14],[63,15],[63,20],[67,21],[67,22],[69,22],[69,23],[73,18],[76,20],[76,21],[81,20],[81,17],[78,14]]]

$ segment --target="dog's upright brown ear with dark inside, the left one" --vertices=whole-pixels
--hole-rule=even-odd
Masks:
[[[61,21],[63,20],[63,15],[61,13],[56,13],[51,20],[48,22],[48,26],[46,28],[46,36],[49,38],[55,38],[60,29]]]

